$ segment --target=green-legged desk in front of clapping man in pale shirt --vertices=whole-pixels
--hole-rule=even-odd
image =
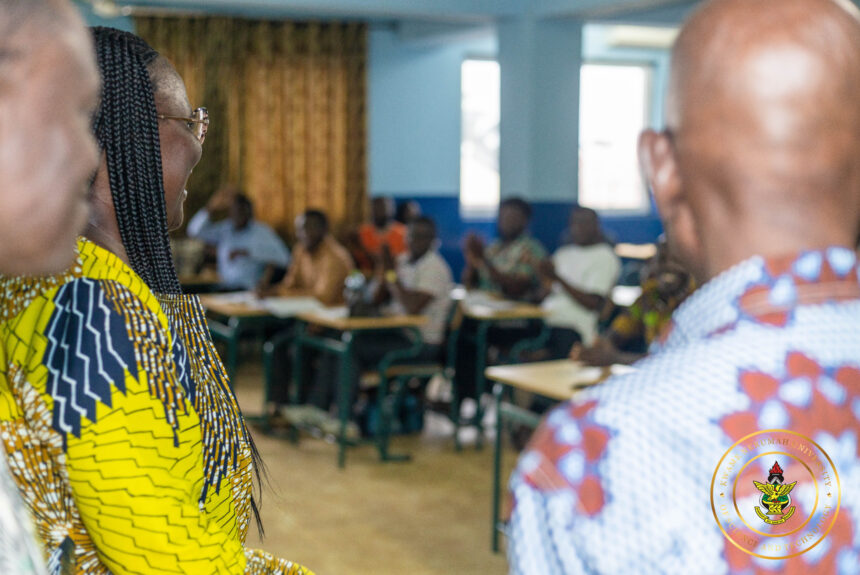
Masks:
[[[385,396],[388,392],[386,381],[386,372],[390,365],[396,361],[415,357],[421,351],[423,343],[418,328],[427,323],[426,316],[417,315],[402,315],[402,316],[387,316],[387,317],[347,317],[346,308],[329,308],[315,312],[301,313],[296,318],[298,320],[295,332],[295,349],[296,356],[293,362],[293,393],[291,395],[291,403],[293,405],[299,402],[299,388],[302,384],[302,372],[304,369],[304,358],[302,348],[308,347],[332,353],[340,359],[340,367],[338,371],[338,416],[340,418],[340,433],[337,437],[338,452],[337,464],[338,467],[346,465],[346,448],[350,442],[346,439],[346,425],[349,421],[350,410],[352,408],[352,386],[355,381],[353,370],[355,369],[355,358],[353,357],[353,335],[356,332],[362,331],[382,331],[405,329],[411,331],[415,336],[415,344],[406,350],[398,350],[389,353],[380,362],[380,381],[378,402],[382,407],[385,403]],[[329,334],[311,334],[308,333],[309,325],[317,326],[339,334],[339,337]],[[380,412],[381,419],[386,419],[390,414],[385,410]],[[381,422],[380,430],[377,433],[376,444],[379,450],[379,456],[382,461],[402,461],[408,459],[407,456],[392,455],[388,452],[389,440],[389,425],[386,422]],[[298,441],[298,435],[293,432],[292,439]]]

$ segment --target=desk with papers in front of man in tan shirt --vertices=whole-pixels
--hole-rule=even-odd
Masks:
[[[209,331],[214,339],[227,345],[226,369],[233,385],[239,363],[239,340],[248,332],[270,327],[286,327],[302,311],[322,307],[310,298],[258,299],[252,292],[206,294],[199,296],[209,316]]]

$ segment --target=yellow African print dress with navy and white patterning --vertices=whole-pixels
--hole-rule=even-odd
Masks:
[[[0,438],[49,570],[310,574],[243,546],[250,438],[197,298],[78,252],[0,278]]]

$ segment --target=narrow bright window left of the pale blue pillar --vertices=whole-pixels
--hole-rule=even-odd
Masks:
[[[460,213],[495,215],[499,206],[499,63],[465,60],[460,74]]]

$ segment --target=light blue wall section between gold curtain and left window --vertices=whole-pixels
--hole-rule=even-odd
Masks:
[[[375,26],[369,38],[369,188],[372,195],[457,196],[460,188],[460,64],[493,57],[492,31],[404,36]]]

